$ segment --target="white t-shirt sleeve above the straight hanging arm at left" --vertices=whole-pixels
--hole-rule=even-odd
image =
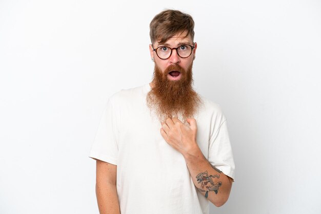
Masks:
[[[117,165],[117,139],[117,116],[112,100],[109,98],[99,122],[89,157]]]

